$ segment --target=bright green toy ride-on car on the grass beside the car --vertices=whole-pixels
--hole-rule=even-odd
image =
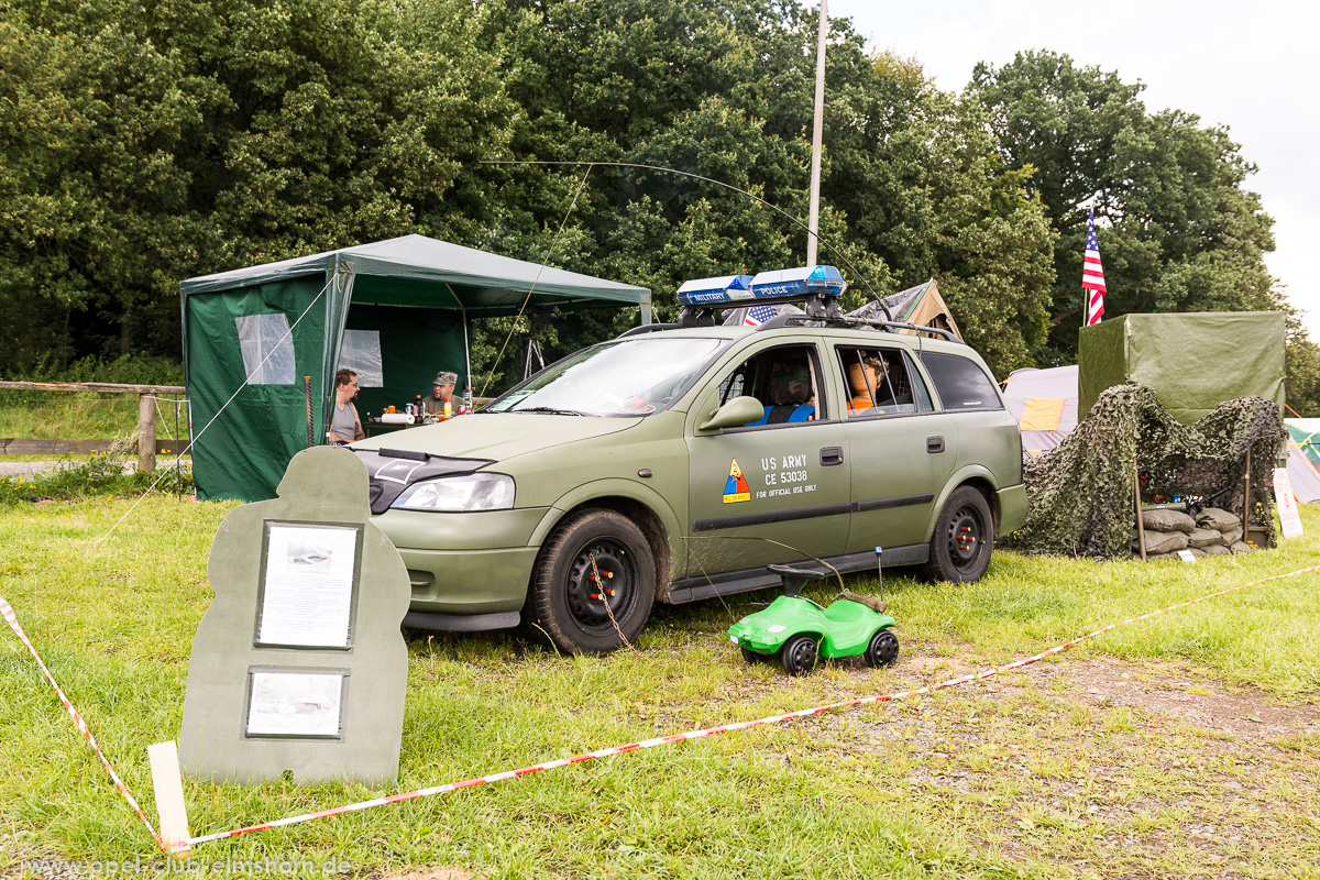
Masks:
[[[729,628],[743,660],[770,662],[777,654],[785,673],[805,676],[816,668],[817,657],[863,654],[871,666],[887,666],[898,657],[899,640],[891,631],[898,623],[894,617],[847,598],[822,608],[797,594],[808,578],[822,578],[824,573],[767,567],[784,579],[785,595]]]

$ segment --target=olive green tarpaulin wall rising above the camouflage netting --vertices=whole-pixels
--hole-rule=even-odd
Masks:
[[[1114,385],[1148,385],[1191,425],[1226,400],[1263,397],[1283,406],[1282,311],[1131,314],[1082,327],[1077,338],[1077,413]]]

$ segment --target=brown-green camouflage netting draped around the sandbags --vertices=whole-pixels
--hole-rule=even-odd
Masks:
[[[1077,430],[1023,466],[1030,509],[1006,544],[1040,553],[1131,555],[1135,507],[1179,497],[1196,509],[1218,507],[1267,529],[1274,542],[1270,491],[1287,434],[1279,405],[1261,397],[1220,404],[1183,425],[1146,385],[1115,385],[1096,401]],[[1251,450],[1251,511],[1243,515],[1243,478]]]

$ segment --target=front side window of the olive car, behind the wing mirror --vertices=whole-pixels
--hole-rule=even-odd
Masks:
[[[747,426],[787,425],[825,418],[821,387],[810,346],[780,346],[742,361],[719,383],[719,402],[755,397],[764,414]]]

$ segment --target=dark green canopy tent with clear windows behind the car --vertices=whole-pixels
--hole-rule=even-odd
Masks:
[[[651,292],[449,244],[424,235],[189,278],[181,285],[183,375],[198,497],[257,501],[313,441],[325,442],[334,376],[358,371],[358,412],[401,408],[436,373],[470,380],[475,318],[525,303],[560,310],[640,306]]]

